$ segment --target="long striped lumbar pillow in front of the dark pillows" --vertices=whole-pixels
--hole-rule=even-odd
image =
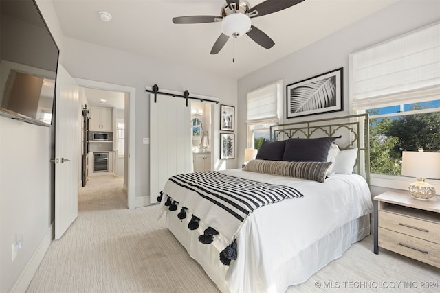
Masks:
[[[324,182],[331,162],[252,160],[243,170]]]

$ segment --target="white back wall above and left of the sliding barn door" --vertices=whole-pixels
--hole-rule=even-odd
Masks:
[[[72,38],[65,38],[64,66],[74,78],[133,86],[136,89],[135,196],[149,196],[149,148],[142,143],[149,137],[149,93],[146,86],[208,95],[221,104],[236,105],[236,80],[179,67],[160,60],[129,54]],[[154,44],[152,44],[154,45]],[[188,126],[189,124],[188,117]],[[219,136],[219,134],[218,134]],[[218,147],[217,147],[218,148]],[[236,167],[228,160],[227,167]],[[156,195],[153,195],[156,196]]]

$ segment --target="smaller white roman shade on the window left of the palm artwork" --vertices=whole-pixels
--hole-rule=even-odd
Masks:
[[[248,92],[248,117],[250,125],[277,122],[279,82]]]

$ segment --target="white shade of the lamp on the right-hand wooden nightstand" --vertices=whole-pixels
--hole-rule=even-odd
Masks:
[[[440,152],[402,152],[401,174],[440,179]]]

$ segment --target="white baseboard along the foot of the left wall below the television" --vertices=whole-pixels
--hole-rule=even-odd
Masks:
[[[43,260],[44,255],[46,254],[47,249],[49,249],[50,243],[54,235],[54,224],[50,225],[47,229],[43,240],[41,240],[39,246],[36,248],[34,255],[32,255],[30,261],[25,266],[23,272],[17,282],[12,287],[11,293],[21,293],[26,292],[28,290],[30,281],[34,277],[36,270],[39,268],[41,261]]]

